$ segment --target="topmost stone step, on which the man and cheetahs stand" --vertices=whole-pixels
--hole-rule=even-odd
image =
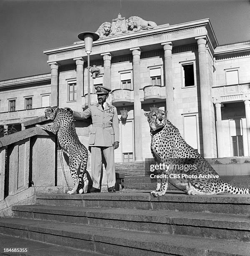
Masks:
[[[92,193],[83,195],[37,195],[41,205],[125,208],[139,210],[171,210],[184,212],[218,212],[249,215],[250,195],[186,195],[168,191],[162,197],[153,197],[149,191]]]

